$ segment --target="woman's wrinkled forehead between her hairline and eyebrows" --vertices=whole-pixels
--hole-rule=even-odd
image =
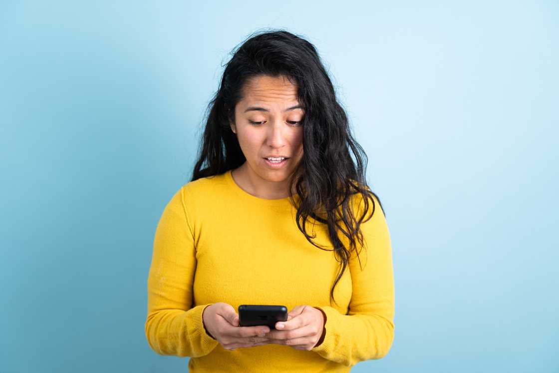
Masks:
[[[243,87],[244,105],[255,103],[282,103],[285,105],[296,104],[297,86],[286,77],[269,77],[260,75],[249,79]]]

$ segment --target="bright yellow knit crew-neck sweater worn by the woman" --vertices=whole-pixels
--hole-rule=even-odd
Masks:
[[[307,242],[288,198],[250,195],[230,171],[183,185],[155,231],[145,322],[149,346],[160,355],[190,357],[191,372],[349,372],[359,361],[382,358],[394,339],[394,273],[377,199],[375,207],[361,225],[363,271],[352,252],[334,290],[337,306],[329,295],[339,262],[332,251]],[[307,227],[316,234],[314,242],[332,248],[323,225]],[[347,247],[347,238],[340,239]],[[324,341],[311,351],[281,344],[226,350],[202,323],[203,309],[217,302],[235,310],[241,304],[285,305],[288,311],[314,306],[326,314]]]

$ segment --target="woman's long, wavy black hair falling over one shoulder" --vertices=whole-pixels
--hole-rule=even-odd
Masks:
[[[306,221],[311,218],[328,226],[334,255],[341,263],[341,271],[330,290],[330,299],[335,302],[334,287],[348,266],[350,253],[356,250],[356,239],[363,246],[359,226],[369,209],[368,200],[372,202],[372,213],[364,221],[371,219],[375,212],[372,195],[380,204],[378,196],[367,186],[367,155],[353,139],[347,114],[338,103],[328,73],[309,41],[285,30],[258,31],[235,47],[231,54],[220,87],[207,107],[209,115],[191,181],[224,173],[245,162],[230,122],[235,122],[235,105],[241,100],[248,79],[258,75],[281,75],[296,83],[297,96],[305,111],[302,119],[304,151],[293,172],[290,200],[297,208],[299,230],[311,244],[323,250],[328,249],[312,242],[311,238],[316,235],[307,234]],[[300,200],[298,206],[292,193],[293,184]],[[353,195],[361,197],[359,201],[363,202],[363,213],[359,217],[353,213],[353,197],[350,197]],[[381,211],[384,214],[382,205]],[[348,239],[349,248],[344,246],[339,234]]]

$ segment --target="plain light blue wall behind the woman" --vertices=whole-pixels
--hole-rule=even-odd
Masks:
[[[396,337],[352,371],[559,371],[558,11],[3,1],[0,371],[187,371],[144,335],[155,228],[266,27],[318,49],[386,210]]]

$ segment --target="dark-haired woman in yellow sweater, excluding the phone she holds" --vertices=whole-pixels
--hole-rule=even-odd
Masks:
[[[155,233],[150,347],[191,357],[192,372],[348,372],[385,356],[389,230],[314,46],[250,37],[209,109],[192,180]],[[240,327],[241,304],[290,311],[272,330]]]

